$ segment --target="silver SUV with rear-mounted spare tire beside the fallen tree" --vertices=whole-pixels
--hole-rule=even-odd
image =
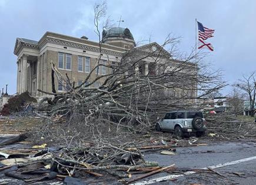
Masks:
[[[182,137],[185,133],[195,133],[197,137],[205,134],[206,122],[204,115],[195,110],[178,110],[165,114],[155,126],[157,131],[171,131]]]

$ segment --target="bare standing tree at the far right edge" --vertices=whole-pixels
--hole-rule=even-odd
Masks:
[[[256,70],[251,72],[249,76],[242,76],[234,85],[236,88],[241,89],[248,96],[250,100],[251,116],[254,116],[255,110],[255,96],[256,96]]]

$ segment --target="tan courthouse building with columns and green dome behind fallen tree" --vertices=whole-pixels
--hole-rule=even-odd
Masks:
[[[118,27],[103,31],[100,62],[115,65],[116,62],[120,62],[125,52],[135,46],[134,38],[128,28]],[[138,49],[156,51],[159,47],[154,42],[139,46]],[[17,56],[17,92],[28,91],[32,96],[42,96],[44,94],[37,89],[45,92],[52,91],[51,63],[55,64],[62,75],[65,76],[67,73],[69,78],[79,85],[97,65],[99,43],[89,41],[86,36],[75,38],[46,32],[39,41],[17,38],[14,54]],[[148,62],[144,64],[144,73],[148,73],[148,64]],[[105,75],[111,72],[110,70],[111,68],[100,66],[98,75]],[[92,73],[89,81],[94,80],[96,75]],[[99,83],[94,83],[94,86],[99,86]],[[58,92],[65,90],[62,83],[58,83],[56,79],[55,89]]]

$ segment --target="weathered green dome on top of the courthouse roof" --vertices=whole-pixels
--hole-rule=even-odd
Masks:
[[[114,27],[102,32],[102,42],[131,49],[135,46],[134,37],[128,28]]]

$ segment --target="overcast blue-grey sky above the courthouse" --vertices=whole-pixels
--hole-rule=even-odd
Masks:
[[[100,1],[0,0],[0,88],[7,83],[16,92],[15,39],[38,41],[46,31],[97,41],[94,33],[94,4]],[[195,18],[215,29],[208,39],[215,51],[207,57],[223,70],[232,84],[242,74],[256,70],[256,1],[107,1],[107,14],[116,25],[129,28],[135,41],[164,42],[172,33],[180,36],[179,50],[188,52],[195,44]],[[225,89],[223,93],[228,93]]]

